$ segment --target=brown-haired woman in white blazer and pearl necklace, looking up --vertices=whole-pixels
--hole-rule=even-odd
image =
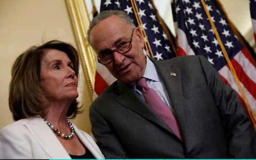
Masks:
[[[30,47],[14,62],[9,107],[16,121],[0,130],[0,159],[104,158],[68,118],[77,106],[78,53],[65,42]]]

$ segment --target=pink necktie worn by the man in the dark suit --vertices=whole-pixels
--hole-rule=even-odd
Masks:
[[[159,97],[159,95],[151,89],[146,82],[146,78],[142,77],[137,82],[137,86],[141,87],[141,92],[145,97],[148,105],[163,119],[163,121],[170,127],[170,129],[181,139],[180,130],[177,119],[172,113],[171,109]]]

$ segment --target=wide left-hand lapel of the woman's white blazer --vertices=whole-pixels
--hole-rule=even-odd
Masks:
[[[40,116],[28,118],[27,121],[28,123],[25,125],[28,127],[28,130],[37,139],[41,147],[45,150],[45,153],[47,153],[50,158],[71,158],[66,149],[61,145],[58,138],[51,131],[50,127],[47,126]]]

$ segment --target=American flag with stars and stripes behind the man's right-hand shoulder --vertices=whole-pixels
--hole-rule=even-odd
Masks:
[[[204,55],[218,70],[222,80],[237,92],[255,127],[256,63],[249,50],[243,45],[241,35],[237,34],[237,30],[223,12],[220,2],[175,0],[172,1],[172,5],[175,16],[173,19],[177,19],[175,26],[177,27],[178,55]],[[216,30],[213,29],[207,12],[210,13],[209,18]],[[223,44],[222,48],[220,41],[217,40],[217,33]],[[242,92],[230,71],[231,67],[228,66],[223,48],[234,67]]]

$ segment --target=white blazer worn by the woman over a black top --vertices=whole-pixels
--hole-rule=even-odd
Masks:
[[[77,137],[93,156],[104,159],[93,138],[74,124]],[[0,159],[71,159],[40,116],[20,119],[0,130]]]

